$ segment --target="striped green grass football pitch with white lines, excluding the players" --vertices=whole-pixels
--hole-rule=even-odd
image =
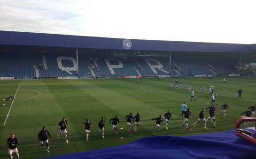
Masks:
[[[170,83],[183,84],[183,89],[173,90]],[[83,152],[110,146],[124,145],[147,136],[175,135],[189,136],[217,131],[233,130],[240,114],[256,103],[256,79],[247,77],[211,77],[211,79],[155,78],[144,79],[45,79],[45,80],[0,80],[0,99],[15,96],[14,102],[0,101],[0,158],[8,158],[7,138],[15,133],[19,141],[20,158],[34,159],[51,157],[61,154]],[[195,90],[195,101],[190,101],[190,93],[186,83]],[[200,122],[193,126],[202,108],[207,108],[210,97],[209,86],[216,89],[217,128],[212,122],[207,123],[208,130],[203,129]],[[199,93],[199,86],[205,85],[204,93]],[[244,90],[243,99],[234,98],[235,90]],[[184,118],[180,118],[180,105],[186,101],[192,115],[188,119],[189,129],[182,127]],[[226,118],[221,116],[221,105],[228,102]],[[5,103],[5,106],[2,104]],[[169,130],[165,130],[165,121],[157,133],[155,120],[171,110]],[[128,133],[124,117],[132,112],[133,116],[140,113],[140,126]],[[209,115],[206,110],[205,118]],[[7,117],[7,115],[9,115]],[[109,120],[118,115],[118,135],[112,130]],[[98,122],[105,117],[105,138],[101,137]],[[57,124],[66,117],[68,121],[68,140],[65,143],[62,135],[57,139],[60,127]],[[89,141],[85,140],[82,123],[89,119],[93,124]],[[53,140],[49,140],[50,153],[46,146],[40,146],[38,133],[45,126]],[[244,127],[244,125],[242,125]],[[120,129],[123,128],[123,129]],[[124,137],[120,139],[120,137]],[[49,139],[49,137],[48,137]],[[14,157],[16,158],[16,157]]]

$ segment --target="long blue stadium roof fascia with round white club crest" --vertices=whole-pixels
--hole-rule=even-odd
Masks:
[[[136,40],[92,36],[0,31],[0,45],[131,51],[251,52],[255,44]]]

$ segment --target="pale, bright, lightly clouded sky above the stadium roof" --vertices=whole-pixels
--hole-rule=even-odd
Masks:
[[[0,30],[256,43],[256,0],[0,0]]]

